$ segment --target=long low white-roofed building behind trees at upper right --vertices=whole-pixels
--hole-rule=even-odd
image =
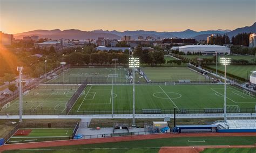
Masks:
[[[220,55],[230,54],[230,48],[219,45],[186,45],[180,47],[172,47],[172,50],[178,50],[180,52],[184,52],[185,54],[187,54],[187,52],[201,52],[205,55],[213,55],[215,52],[218,52]]]

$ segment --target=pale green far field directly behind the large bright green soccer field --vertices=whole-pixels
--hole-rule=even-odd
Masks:
[[[143,67],[142,71],[147,78],[154,81],[199,81],[199,73],[187,67]],[[210,81],[210,78],[201,75],[201,81]]]

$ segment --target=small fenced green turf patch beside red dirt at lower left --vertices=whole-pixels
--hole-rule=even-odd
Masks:
[[[22,130],[22,129],[19,129]],[[25,129],[27,130],[27,129]],[[8,143],[19,142],[39,142],[39,141],[52,141],[52,140],[67,140],[72,137],[73,129],[32,129],[29,135],[12,136]]]

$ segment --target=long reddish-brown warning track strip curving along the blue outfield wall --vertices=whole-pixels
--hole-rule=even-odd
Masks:
[[[150,135],[133,135],[133,136],[120,136],[120,137],[106,137],[106,138],[92,138],[90,140],[63,140],[49,142],[31,142],[22,144],[5,144],[0,147],[0,150],[14,150],[14,149],[31,149],[43,147],[58,147],[66,145],[79,145],[79,144],[95,144],[106,142],[121,142],[121,141],[135,141],[135,140],[148,140],[156,138],[171,138],[171,137],[214,137],[214,136],[256,136],[256,133],[183,133],[183,134],[150,134]]]

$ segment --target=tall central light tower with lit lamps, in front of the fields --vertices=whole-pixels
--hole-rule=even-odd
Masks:
[[[135,68],[139,67],[139,58],[129,58],[129,67],[133,68],[132,126],[135,127]]]

